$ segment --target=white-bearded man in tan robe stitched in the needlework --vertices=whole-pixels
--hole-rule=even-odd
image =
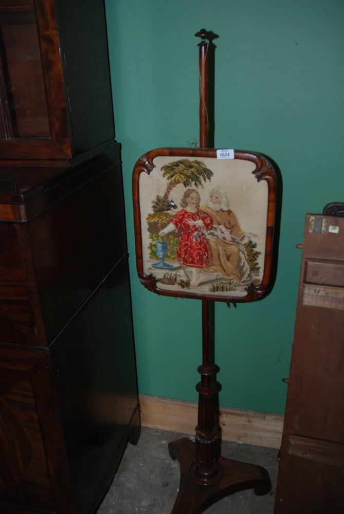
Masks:
[[[213,219],[213,227],[207,237],[212,253],[208,273],[219,273],[234,282],[250,282],[250,268],[244,247],[245,232],[241,229],[237,216],[229,209],[227,194],[220,188],[210,191],[208,204],[202,211]]]

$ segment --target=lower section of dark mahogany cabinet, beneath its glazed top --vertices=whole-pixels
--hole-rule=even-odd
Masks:
[[[139,436],[119,144],[33,171],[0,167],[0,512],[95,512]]]

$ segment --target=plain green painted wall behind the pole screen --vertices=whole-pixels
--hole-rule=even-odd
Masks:
[[[138,281],[131,196],[136,160],[198,139],[198,38],[219,35],[215,146],[264,153],[283,176],[279,267],[261,302],[217,303],[220,403],[283,413],[306,212],[343,201],[342,0],[106,0],[116,138],[122,143],[141,393],[197,400],[201,302]],[[100,78],[101,80],[101,78]]]

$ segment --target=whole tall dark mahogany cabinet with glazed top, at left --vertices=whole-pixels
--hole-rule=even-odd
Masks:
[[[101,0],[0,3],[0,512],[96,512],[140,433]]]

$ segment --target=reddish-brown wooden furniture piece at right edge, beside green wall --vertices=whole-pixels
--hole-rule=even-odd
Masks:
[[[344,512],[344,217],[307,214],[275,514]]]

